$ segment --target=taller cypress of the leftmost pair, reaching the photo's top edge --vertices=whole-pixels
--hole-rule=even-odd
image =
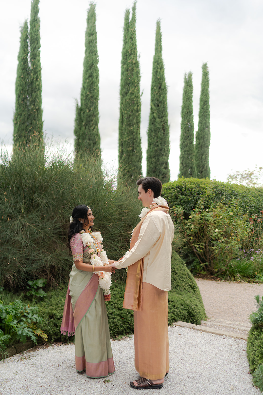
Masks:
[[[30,135],[34,135],[35,141],[43,142],[43,121],[42,121],[42,79],[40,63],[40,19],[39,0],[32,0],[30,15],[30,84],[29,84],[29,104],[30,104]]]

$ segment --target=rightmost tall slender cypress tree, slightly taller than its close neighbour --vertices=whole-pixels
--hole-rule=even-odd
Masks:
[[[207,63],[202,66],[202,81],[199,107],[198,131],[196,132],[195,164],[198,178],[210,178],[210,107],[209,71]]]

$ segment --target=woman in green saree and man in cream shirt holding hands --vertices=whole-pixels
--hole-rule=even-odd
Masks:
[[[90,207],[75,207],[68,241],[74,264],[69,275],[61,333],[75,334],[76,370],[91,378],[115,371],[105,300],[110,300],[110,273],[128,267],[123,308],[134,310],[134,359],[140,378],[136,389],[161,388],[169,371],[168,295],[171,289],[171,243],[174,226],[162,183],[155,177],[137,181],[144,208],[134,228],[130,250],[119,261],[103,251],[93,232]],[[97,274],[97,275],[96,275]]]

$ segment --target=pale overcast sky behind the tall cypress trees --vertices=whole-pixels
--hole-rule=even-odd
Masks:
[[[20,26],[30,0],[1,2],[0,139],[12,144]],[[118,165],[118,119],[123,21],[129,0],[97,0],[99,131],[104,162]],[[73,147],[75,99],[80,98],[89,1],[42,0],[39,4],[43,130]],[[198,127],[201,66],[210,77],[211,178],[263,166],[262,0],[138,0],[137,49],[141,70],[141,137],[146,168],[151,71],[157,19],[168,85],[171,181],[179,173],[184,73],[192,71],[194,129]],[[109,166],[109,165],[108,165]]]

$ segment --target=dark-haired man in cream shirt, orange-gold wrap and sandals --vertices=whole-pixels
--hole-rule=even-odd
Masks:
[[[132,233],[130,251],[111,266],[128,267],[123,307],[134,310],[134,388],[161,388],[169,371],[168,295],[171,289],[171,243],[174,226],[162,183],[155,177],[137,181],[138,199],[147,207]]]

